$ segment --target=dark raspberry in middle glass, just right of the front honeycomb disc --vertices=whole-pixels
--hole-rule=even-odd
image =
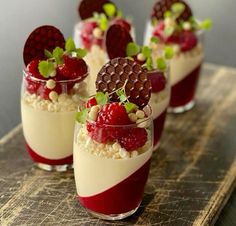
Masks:
[[[153,93],[157,93],[165,89],[166,78],[163,72],[150,71],[148,72],[148,77],[151,80]]]

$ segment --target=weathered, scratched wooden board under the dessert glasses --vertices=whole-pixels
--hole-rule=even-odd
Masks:
[[[141,208],[106,222],[75,199],[73,172],[33,167],[21,126],[0,141],[0,225],[211,225],[236,177],[236,71],[205,66],[197,106],[169,115]]]

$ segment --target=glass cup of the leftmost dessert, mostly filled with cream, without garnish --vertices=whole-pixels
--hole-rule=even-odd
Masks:
[[[49,89],[47,80],[23,71],[23,132],[26,149],[36,166],[47,171],[66,171],[72,168],[75,114],[86,84],[79,79],[53,81],[55,87]]]

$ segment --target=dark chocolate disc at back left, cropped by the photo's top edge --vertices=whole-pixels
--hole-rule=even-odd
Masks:
[[[110,0],[81,0],[78,8],[79,16],[82,20],[93,17],[95,12],[105,13],[103,6],[106,3],[112,3]],[[115,5],[115,4],[114,4]]]

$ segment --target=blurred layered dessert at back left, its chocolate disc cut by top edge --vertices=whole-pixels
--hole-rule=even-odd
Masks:
[[[108,29],[112,25],[119,25],[133,37],[134,29],[110,0],[82,0],[78,13],[81,21],[75,25],[74,40],[77,47],[88,50],[85,61],[90,68],[90,76],[86,82],[89,84],[89,94],[94,95],[96,76],[110,58],[106,50]]]

